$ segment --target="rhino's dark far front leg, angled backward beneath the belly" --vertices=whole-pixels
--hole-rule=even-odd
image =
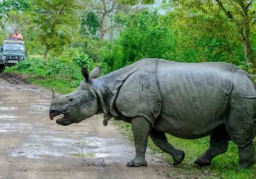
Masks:
[[[149,134],[150,138],[152,138],[154,144],[159,147],[161,150],[170,154],[174,160],[174,166],[179,165],[184,157],[185,153],[182,150],[175,149],[170,143],[168,143],[165,133],[161,131],[156,131],[156,129],[152,129]]]

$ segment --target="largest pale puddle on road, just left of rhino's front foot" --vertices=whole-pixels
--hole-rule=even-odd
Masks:
[[[30,135],[28,142],[9,152],[10,156],[44,158],[45,156],[66,156],[78,158],[119,158],[132,153],[122,140],[86,136],[84,138],[61,138],[47,135]]]

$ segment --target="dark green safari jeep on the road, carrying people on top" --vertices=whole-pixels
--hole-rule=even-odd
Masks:
[[[19,61],[24,61],[26,57],[26,48],[24,41],[3,41],[2,58],[6,66],[15,65]]]

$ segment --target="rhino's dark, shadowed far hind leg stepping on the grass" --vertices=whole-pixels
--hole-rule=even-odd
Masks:
[[[217,127],[210,135],[210,147],[205,153],[194,162],[200,167],[205,167],[211,165],[212,158],[223,154],[228,149],[228,140],[230,137],[225,129],[224,125]]]

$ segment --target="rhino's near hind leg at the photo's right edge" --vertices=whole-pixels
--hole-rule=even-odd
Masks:
[[[234,98],[230,101],[227,130],[239,148],[239,164],[248,168],[255,163],[253,140],[256,134],[255,99]]]

